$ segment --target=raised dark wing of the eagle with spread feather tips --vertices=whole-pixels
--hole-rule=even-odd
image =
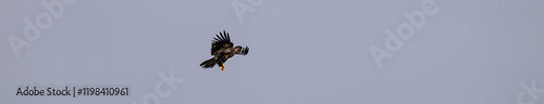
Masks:
[[[219,35],[215,36],[217,38],[213,38],[214,40],[211,43],[211,55],[217,55],[225,51],[225,49],[233,48],[234,44],[231,42],[228,32],[223,30],[223,32],[220,31]]]

